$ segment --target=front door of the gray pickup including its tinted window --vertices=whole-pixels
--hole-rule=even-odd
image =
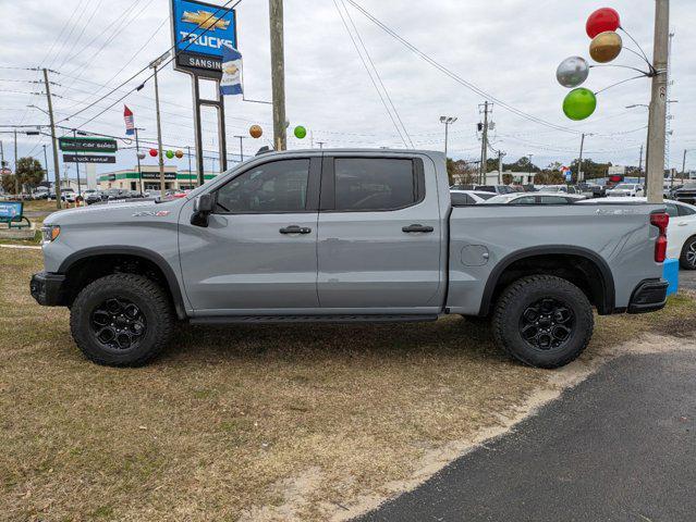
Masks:
[[[320,167],[318,159],[313,161],[308,174],[309,160],[297,161],[253,167],[218,189],[219,204],[207,227],[191,225],[193,201],[182,210],[181,269],[197,315],[318,308]],[[305,210],[290,211],[294,208]]]

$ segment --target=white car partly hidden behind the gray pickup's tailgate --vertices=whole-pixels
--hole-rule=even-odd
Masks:
[[[646,198],[630,201],[625,197],[588,199],[585,204],[601,203],[645,203]],[[679,259],[684,270],[696,270],[696,207],[681,201],[664,201],[670,224],[667,227],[667,257]]]

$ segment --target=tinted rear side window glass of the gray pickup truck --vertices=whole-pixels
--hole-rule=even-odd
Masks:
[[[337,158],[334,176],[337,211],[396,210],[419,199],[412,160]]]

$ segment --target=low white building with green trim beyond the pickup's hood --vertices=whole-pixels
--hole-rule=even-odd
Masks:
[[[143,165],[143,190],[159,190],[159,166]],[[206,172],[205,181],[212,179],[217,173]],[[98,187],[100,190],[108,188],[122,188],[125,190],[139,190],[139,176],[137,167],[132,170],[113,171],[98,176]],[[187,190],[198,186],[195,172],[179,171],[174,165],[164,165],[164,189],[166,190]]]

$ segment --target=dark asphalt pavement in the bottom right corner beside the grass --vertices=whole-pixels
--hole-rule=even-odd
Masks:
[[[694,521],[696,360],[621,357],[359,521]]]

